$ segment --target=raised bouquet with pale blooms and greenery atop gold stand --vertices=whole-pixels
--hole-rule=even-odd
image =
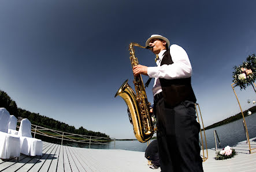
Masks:
[[[243,62],[240,66],[233,67],[233,82],[236,86],[240,86],[240,89],[246,89],[248,85],[253,85],[256,79],[256,57],[255,54],[249,55],[246,62]]]

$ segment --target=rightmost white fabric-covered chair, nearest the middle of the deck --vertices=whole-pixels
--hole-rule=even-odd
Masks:
[[[21,153],[30,156],[42,155],[43,142],[32,138],[31,122],[28,119],[21,120],[18,136],[20,136]]]

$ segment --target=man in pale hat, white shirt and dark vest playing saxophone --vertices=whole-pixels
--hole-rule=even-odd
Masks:
[[[188,55],[179,45],[170,46],[161,35],[152,35],[146,46],[153,47],[157,67],[137,65],[133,74],[155,78],[154,113],[161,171],[203,171]]]

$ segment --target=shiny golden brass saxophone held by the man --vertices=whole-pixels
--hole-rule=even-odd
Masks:
[[[142,47],[138,43],[129,44],[130,60],[132,68],[139,64],[138,58],[135,57],[135,50],[133,46],[150,49],[151,47]],[[134,77],[133,83],[135,85],[135,92],[131,86],[128,85],[128,79],[118,89],[116,95],[120,95],[128,106],[128,115],[131,124],[133,125],[133,132],[139,142],[147,142],[154,135],[154,125],[150,114],[150,102],[147,101],[147,94],[143,85],[142,76]]]

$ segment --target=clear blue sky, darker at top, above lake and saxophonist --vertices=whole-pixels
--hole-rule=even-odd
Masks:
[[[239,112],[233,66],[256,53],[254,1],[0,1],[0,89],[18,107],[116,138],[135,138],[127,105],[128,45],[168,37],[190,58],[205,126]],[[135,48],[139,63],[154,55]],[[147,77],[143,77],[146,82]],[[153,102],[151,88],[146,89]],[[252,87],[236,92],[242,108]]]

